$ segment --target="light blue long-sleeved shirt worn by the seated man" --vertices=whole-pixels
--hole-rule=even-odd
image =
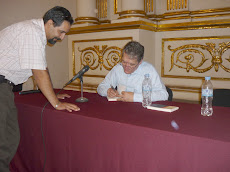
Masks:
[[[111,86],[115,88],[123,85],[126,87],[125,91],[134,92],[134,102],[142,102],[142,82],[145,74],[149,74],[152,82],[152,101],[168,100],[168,92],[156,69],[144,61],[131,74],[126,74],[122,65],[117,64],[99,84],[97,92],[101,96],[107,96],[107,90]]]

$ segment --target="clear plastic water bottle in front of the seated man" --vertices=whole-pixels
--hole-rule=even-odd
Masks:
[[[152,82],[151,79],[149,78],[149,74],[145,74],[145,78],[142,82],[142,106],[146,107],[151,105],[152,100],[151,100],[151,94],[152,94]]]

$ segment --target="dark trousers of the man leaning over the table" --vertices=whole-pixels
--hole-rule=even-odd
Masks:
[[[0,83],[0,172],[9,172],[20,140],[12,86]]]

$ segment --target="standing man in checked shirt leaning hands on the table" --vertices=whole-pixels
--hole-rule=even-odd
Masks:
[[[0,31],[0,172],[9,171],[9,163],[16,153],[20,133],[13,85],[25,82],[30,76],[57,110],[80,110],[74,104],[60,102],[55,95],[47,69],[45,46],[63,40],[73,24],[70,12],[56,6],[43,19],[13,24]]]

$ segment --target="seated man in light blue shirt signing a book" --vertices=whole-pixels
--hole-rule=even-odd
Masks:
[[[143,61],[144,47],[135,41],[125,45],[122,61],[108,73],[97,88],[98,94],[119,97],[119,101],[142,102],[142,82],[145,74],[152,81],[152,101],[168,99],[168,92],[156,69]],[[117,90],[114,89],[117,87]]]

